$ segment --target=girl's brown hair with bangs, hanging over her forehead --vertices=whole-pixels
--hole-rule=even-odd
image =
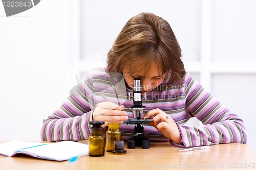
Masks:
[[[147,76],[156,63],[159,72],[170,73],[168,84],[181,82],[185,69],[181,48],[169,23],[153,13],[140,13],[126,22],[108,53],[109,72]]]

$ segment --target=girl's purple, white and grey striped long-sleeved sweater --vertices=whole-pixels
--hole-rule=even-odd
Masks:
[[[110,76],[112,75],[112,76]],[[115,86],[111,83],[111,77]],[[156,89],[147,93],[143,101],[141,116],[149,110],[159,108],[171,116],[178,125],[182,144],[165,138],[156,128],[143,125],[144,135],[151,141],[169,141],[177,147],[195,147],[218,143],[246,143],[247,131],[243,120],[217,101],[187,72],[180,84],[167,86],[169,75]],[[66,101],[44,122],[41,139],[49,141],[87,140],[93,110],[100,102],[105,102],[100,94],[117,105],[124,105],[129,118],[132,118],[133,101],[128,93],[133,89],[125,86],[124,79],[118,74],[110,74],[106,68],[96,68],[89,72],[76,88],[71,90]],[[197,117],[203,127],[184,126],[190,117]],[[135,125],[120,125],[122,139],[127,140],[134,134]],[[105,127],[103,134],[108,130]]]

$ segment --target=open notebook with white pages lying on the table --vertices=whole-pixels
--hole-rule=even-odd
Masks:
[[[40,159],[64,161],[88,155],[89,147],[88,144],[75,141],[39,143],[12,140],[0,144],[1,156],[13,157],[17,154],[25,154]]]

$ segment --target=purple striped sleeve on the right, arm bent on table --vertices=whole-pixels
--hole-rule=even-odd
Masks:
[[[186,113],[197,117],[203,127],[180,126],[181,141],[177,147],[195,147],[218,143],[246,143],[247,131],[243,120],[217,101],[197,81],[187,79]]]

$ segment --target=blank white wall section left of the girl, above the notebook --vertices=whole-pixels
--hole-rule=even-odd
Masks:
[[[42,120],[67,98],[71,5],[44,0],[6,17],[0,4],[0,140],[40,140]]]

